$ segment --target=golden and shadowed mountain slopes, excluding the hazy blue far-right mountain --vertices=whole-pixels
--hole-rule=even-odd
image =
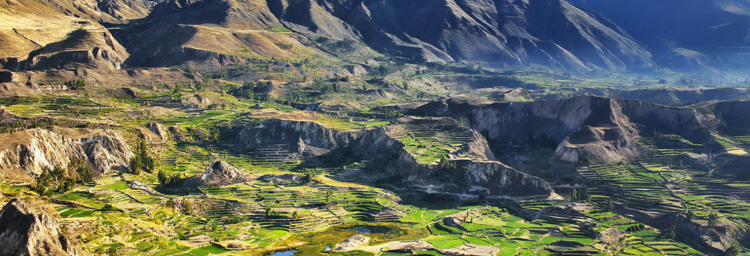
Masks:
[[[302,49],[318,36],[425,61],[652,67],[649,51],[625,31],[563,0],[14,1],[2,14],[0,64],[7,70],[236,64],[249,56],[310,54],[279,46]],[[118,25],[115,39],[99,22],[130,24]],[[267,31],[281,27],[304,37]]]

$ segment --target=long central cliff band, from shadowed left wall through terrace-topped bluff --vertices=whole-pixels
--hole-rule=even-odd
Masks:
[[[410,132],[419,129],[416,127],[437,132],[437,140],[449,140],[443,137],[454,136],[451,142],[435,146],[452,147],[447,155],[449,162],[453,162],[450,168],[439,165],[437,160],[424,162],[424,157],[404,149],[406,145],[398,138],[412,136]],[[383,166],[378,168],[377,174],[363,175],[375,180],[393,178],[396,180],[389,181],[425,192],[469,197],[556,197],[544,180],[494,161],[495,157],[484,137],[451,118],[401,118],[394,124],[371,129],[359,138],[352,132],[331,129],[314,121],[284,119],[269,119],[255,127],[234,128],[226,133],[233,135],[230,139],[236,144],[245,143],[246,147],[287,144],[288,147],[274,147],[275,157],[284,154],[290,157],[315,157],[346,147],[357,159],[369,159]]]

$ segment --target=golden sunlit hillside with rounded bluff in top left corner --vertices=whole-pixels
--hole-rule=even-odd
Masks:
[[[6,70],[119,69],[129,55],[95,20],[99,14],[95,1],[1,3],[0,66]]]

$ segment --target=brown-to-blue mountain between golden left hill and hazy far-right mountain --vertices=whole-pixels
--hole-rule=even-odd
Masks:
[[[196,55],[207,52],[183,49],[208,49],[225,55],[211,58],[221,61],[245,47],[258,47],[242,37],[251,34],[248,30],[281,25],[310,37],[361,40],[374,49],[425,61],[571,70],[652,66],[648,50],[613,22],[562,0],[169,0],[154,6],[148,18],[121,37],[135,37],[131,52],[139,55],[170,49],[201,61]],[[258,36],[271,39],[272,46],[290,43],[270,33]],[[163,65],[144,60],[139,64]]]

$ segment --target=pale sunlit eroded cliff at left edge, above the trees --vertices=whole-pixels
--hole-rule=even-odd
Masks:
[[[46,129],[27,129],[0,135],[0,175],[30,180],[55,165],[67,168],[83,160],[96,174],[126,169],[133,153],[113,132],[70,138]]]

